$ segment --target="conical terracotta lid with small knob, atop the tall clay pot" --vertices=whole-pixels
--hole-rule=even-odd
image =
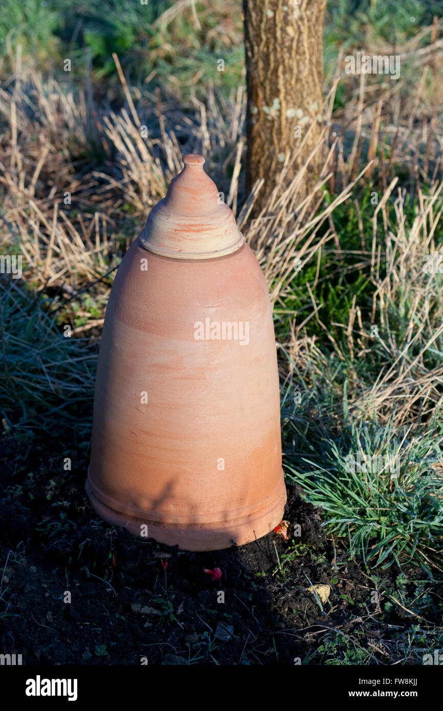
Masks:
[[[203,170],[198,154],[183,156],[185,167],[171,181],[166,197],[149,213],[139,242],[146,250],[178,260],[223,257],[238,250],[245,238],[232,210]]]

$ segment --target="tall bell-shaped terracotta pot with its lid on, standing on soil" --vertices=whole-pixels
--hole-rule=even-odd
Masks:
[[[218,550],[283,517],[277,355],[255,255],[204,159],[183,162],[112,286],[86,489],[112,525]]]

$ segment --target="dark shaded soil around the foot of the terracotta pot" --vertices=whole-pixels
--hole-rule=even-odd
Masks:
[[[347,560],[294,487],[287,541],[271,533],[240,548],[188,553],[108,528],[83,491],[89,434],[73,427],[3,436],[1,653],[20,653],[26,665],[293,665],[324,663],[327,638],[348,663],[385,664],[395,635],[417,624],[388,593],[371,602],[375,589],[395,589],[400,570],[376,579]],[[71,471],[63,471],[65,457]],[[223,573],[216,582],[203,572],[214,567]],[[424,577],[406,572],[410,581]],[[311,584],[328,584],[329,601],[308,592]],[[437,618],[431,599],[427,619]]]

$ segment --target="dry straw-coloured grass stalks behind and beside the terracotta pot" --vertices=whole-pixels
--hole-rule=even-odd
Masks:
[[[160,19],[165,22],[168,17]],[[380,199],[373,214],[373,245],[369,251],[362,242],[361,262],[354,268],[365,269],[370,275],[374,287],[371,321],[380,324],[383,338],[375,341],[370,336],[370,323],[363,324],[361,307],[354,299],[348,323],[342,324],[348,354],[343,351],[329,333],[328,324],[319,319],[321,304],[313,295],[318,266],[314,282],[306,284],[309,314],[301,319],[294,315],[285,338],[279,341],[282,377],[287,383],[293,382],[296,373],[306,373],[306,363],[309,378],[326,372],[329,356],[321,352],[315,339],[306,336],[306,324],[315,319],[324,328],[331,353],[338,361],[344,363],[350,358],[352,365],[375,348],[386,363],[370,387],[359,383],[353,390],[350,412],[355,417],[368,416],[374,409],[384,419],[395,413],[399,427],[432,417],[439,413],[442,402],[443,366],[429,365],[427,354],[432,348],[439,351],[442,347],[442,280],[438,274],[429,279],[422,271],[422,260],[438,247],[434,235],[443,212],[442,139],[437,131],[442,107],[437,98],[434,105],[425,106],[421,98],[427,73],[435,75],[432,60],[437,61],[440,51],[434,36],[429,51],[423,54],[422,80],[410,97],[409,113],[399,105],[399,85],[388,87],[384,95],[378,92],[373,100],[373,88],[362,77],[356,100],[346,107],[340,132],[332,112],[337,77],[324,104],[326,161],[315,191],[299,201],[299,187],[309,161],[290,186],[283,188],[284,175],[297,158],[294,151],[282,165],[281,180],[267,207],[254,220],[250,211],[260,183],[245,196],[241,179],[245,118],[242,86],[230,100],[210,88],[206,105],[193,97],[185,114],[166,108],[159,97],[155,105],[148,102],[146,107],[141,99],[136,106],[137,92],[127,85],[114,57],[127,108],[98,115],[82,92],[75,95],[53,79],[43,82],[34,70],[23,75],[20,68],[9,87],[0,90],[2,245],[23,254],[24,279],[38,291],[46,294],[50,287],[59,289],[57,311],[66,296],[68,303],[73,301],[88,284],[96,285],[97,279],[104,279],[109,289],[107,275],[118,262],[122,240],[124,249],[137,235],[151,206],[164,196],[169,181],[181,169],[181,154],[203,151],[208,156],[209,171],[215,173],[219,185],[221,181],[226,186],[226,201],[255,249],[272,304],[284,307],[291,294],[295,260],[300,260],[301,269],[307,264],[319,265],[325,255],[346,263],[348,255],[334,226],[335,211],[345,202],[356,201],[361,222],[356,188],[362,181],[376,178]],[[395,123],[390,121],[392,117],[396,117]],[[140,131],[145,121],[146,138]],[[348,132],[352,132],[351,141]],[[95,157],[97,150],[101,151],[100,161]],[[79,152],[84,159],[73,163],[73,156]],[[226,176],[229,164],[233,166],[230,179]],[[419,195],[420,208],[412,228],[407,228],[405,219],[407,192],[393,177],[397,166],[406,166],[409,185],[413,183]],[[420,181],[427,183],[427,194],[420,188]],[[329,202],[325,200],[326,189],[336,195]],[[63,203],[66,193],[73,196],[72,205]],[[395,219],[388,210],[392,201]],[[122,213],[122,209],[129,211]],[[387,265],[383,276],[382,262]],[[5,289],[11,296],[16,284],[2,284],[1,291]],[[393,314],[401,314],[405,320],[406,336],[400,337],[391,328]],[[46,324],[46,316],[42,318],[42,324]],[[101,317],[91,316],[87,324],[75,327],[74,334],[100,324]],[[71,379],[64,374],[62,382],[53,375],[53,361],[45,360],[46,346],[42,350],[14,335],[6,336],[6,341],[14,351],[27,348],[26,358],[41,364],[38,374],[33,375],[33,390],[65,390],[70,383],[73,389],[77,387],[86,356],[70,357],[70,368],[73,373],[78,368],[78,374]],[[95,354],[90,357],[94,359]],[[88,374],[90,387],[90,371]],[[20,363],[6,379],[28,387]]]

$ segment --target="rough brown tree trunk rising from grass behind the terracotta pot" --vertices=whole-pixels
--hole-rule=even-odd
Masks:
[[[247,191],[265,178],[254,214],[266,204],[285,156],[299,148],[284,185],[304,164],[323,129],[323,28],[326,0],[243,0],[247,72]],[[311,160],[300,199],[323,165]]]

